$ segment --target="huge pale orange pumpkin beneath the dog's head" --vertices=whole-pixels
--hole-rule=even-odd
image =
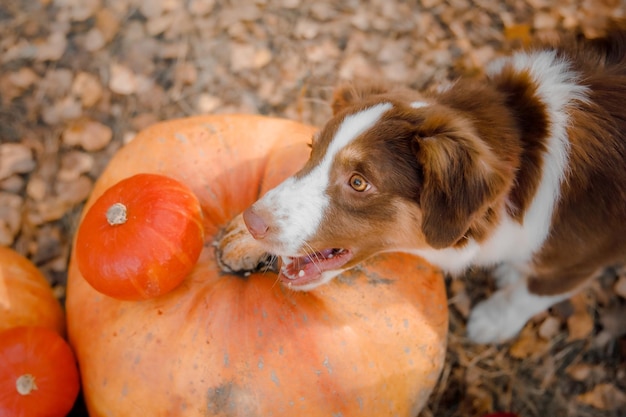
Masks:
[[[91,417],[415,416],[439,377],[443,278],[385,254],[311,292],[272,272],[222,272],[216,236],[308,158],[315,129],[251,115],[172,120],[110,161],[86,207],[137,172],[177,178],[198,197],[206,244],[170,293],[105,297],[72,255],[66,308]]]

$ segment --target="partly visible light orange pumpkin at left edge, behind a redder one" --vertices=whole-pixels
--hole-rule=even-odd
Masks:
[[[0,246],[0,331],[17,326],[43,326],[63,335],[65,314],[39,269]]]

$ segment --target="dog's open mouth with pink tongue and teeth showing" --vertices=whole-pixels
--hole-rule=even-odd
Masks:
[[[341,268],[350,259],[352,252],[341,248],[324,249],[300,257],[284,256],[278,278],[290,286],[307,285],[320,279],[324,272]]]

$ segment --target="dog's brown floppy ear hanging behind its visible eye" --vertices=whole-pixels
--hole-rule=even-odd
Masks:
[[[449,247],[505,191],[507,172],[487,145],[464,130],[417,137],[414,152],[423,177],[422,232],[433,248]]]

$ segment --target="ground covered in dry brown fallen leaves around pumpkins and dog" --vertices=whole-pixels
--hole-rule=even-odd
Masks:
[[[535,36],[596,36],[625,14],[624,0],[3,0],[0,245],[63,300],[82,203],[143,127],[231,112],[320,126],[340,81],[430,87]],[[423,417],[626,415],[626,273],[501,346],[463,336],[487,274],[448,284],[448,361]]]

